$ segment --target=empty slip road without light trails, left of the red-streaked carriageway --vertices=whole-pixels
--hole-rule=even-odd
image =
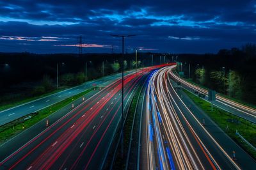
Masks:
[[[125,75],[132,72],[134,72],[134,70],[125,72]],[[10,121],[17,120],[18,118],[26,116],[31,112],[36,112],[40,109],[44,109],[45,107],[49,107],[52,104],[56,104],[57,102],[65,100],[65,98],[77,95],[78,93],[81,93],[86,89],[93,88],[93,84],[96,84],[97,86],[108,86],[108,84],[116,81],[118,78],[120,78],[120,76],[121,73],[108,75],[94,81],[85,82],[74,88],[65,89],[47,97],[38,98],[37,100],[33,100],[26,104],[18,105],[17,107],[12,107],[10,109],[6,109],[5,111],[0,111],[0,126],[4,125],[5,123],[9,123]]]

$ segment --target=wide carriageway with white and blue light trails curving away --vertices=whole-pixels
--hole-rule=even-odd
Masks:
[[[140,169],[245,169],[255,166],[256,162],[220,128],[214,124],[205,127],[199,120],[202,115],[189,110],[170,81],[173,68],[175,66],[155,71],[148,82]],[[239,153],[240,161],[232,160],[232,150]]]

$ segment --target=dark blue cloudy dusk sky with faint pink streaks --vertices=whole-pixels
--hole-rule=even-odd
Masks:
[[[256,42],[256,1],[1,0],[0,52],[204,53]]]

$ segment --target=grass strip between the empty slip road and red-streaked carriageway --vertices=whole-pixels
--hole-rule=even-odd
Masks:
[[[10,123],[7,123],[0,127],[0,144],[4,143],[5,141],[8,141],[8,139],[11,139],[13,136],[19,134],[20,132],[26,130],[27,128],[35,125],[39,121],[43,120],[47,116],[51,115],[52,113],[60,110],[62,107],[65,107],[66,105],[72,103],[77,98],[83,97],[83,95],[86,95],[93,89],[87,89],[77,95],[74,95],[73,97],[66,98],[65,100],[62,100],[61,102],[58,102],[56,104],[53,104],[49,107],[46,107],[45,109],[42,109],[38,112],[28,114],[22,118],[19,118],[18,120],[12,121]],[[24,120],[24,118],[27,118],[31,116],[28,120]]]

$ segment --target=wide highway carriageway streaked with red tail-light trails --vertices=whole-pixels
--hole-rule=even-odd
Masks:
[[[143,74],[155,68],[145,68]],[[141,77],[142,70],[137,76],[125,76],[125,110]],[[0,169],[100,169],[112,142],[109,139],[113,139],[120,122],[121,88],[120,79],[114,81],[63,114],[60,120],[4,158]]]

